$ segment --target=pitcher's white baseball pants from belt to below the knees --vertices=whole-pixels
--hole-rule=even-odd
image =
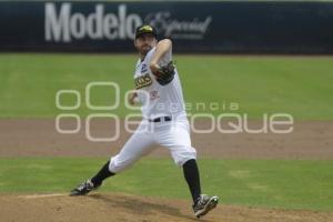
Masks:
[[[113,173],[123,171],[150,153],[157,144],[169,149],[179,167],[196,158],[195,149],[191,147],[190,127],[185,115],[172,117],[172,121],[161,122],[143,119],[122,150],[111,158],[109,170]]]

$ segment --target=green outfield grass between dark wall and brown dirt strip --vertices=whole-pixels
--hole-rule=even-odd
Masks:
[[[239,113],[260,119],[263,113],[285,112],[302,120],[333,120],[333,57],[219,57],[176,56],[178,69],[188,102],[218,102],[230,112],[236,102]],[[80,91],[91,81],[113,81],[124,92],[133,88],[134,56],[0,54],[0,117],[56,117],[56,93],[61,89]],[[112,104],[110,88],[92,90],[93,104]],[[73,104],[71,97],[63,104]],[[19,102],[18,102],[19,101]],[[75,111],[91,113],[82,101]],[[224,110],[223,110],[224,109]],[[203,111],[198,110],[198,111]],[[235,112],[235,111],[233,111]]]

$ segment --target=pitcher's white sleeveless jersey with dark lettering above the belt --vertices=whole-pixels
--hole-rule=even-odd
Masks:
[[[161,85],[149,68],[154,52],[155,48],[151,49],[143,61],[139,59],[135,67],[134,82],[139,101],[142,103],[143,118],[154,119],[178,113],[183,114],[185,113],[185,105],[178,71],[175,69],[174,78],[170,83]],[[159,65],[165,65],[171,60],[172,52],[170,50],[161,58]]]

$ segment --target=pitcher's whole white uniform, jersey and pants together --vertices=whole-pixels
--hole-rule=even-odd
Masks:
[[[174,79],[161,85],[152,74],[149,64],[155,48],[144,60],[139,59],[134,82],[138,98],[142,103],[143,120],[122,150],[111,158],[109,170],[118,173],[160,144],[171,152],[174,162],[181,167],[188,160],[195,159],[195,149],[191,147],[190,127],[186,119],[182,87],[175,69]],[[171,50],[161,58],[160,65],[172,60]]]

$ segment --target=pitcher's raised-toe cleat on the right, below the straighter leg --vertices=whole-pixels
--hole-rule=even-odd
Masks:
[[[213,210],[219,203],[219,196],[209,196],[206,194],[201,194],[196,204],[193,205],[194,214],[198,219],[205,215],[208,212]]]

